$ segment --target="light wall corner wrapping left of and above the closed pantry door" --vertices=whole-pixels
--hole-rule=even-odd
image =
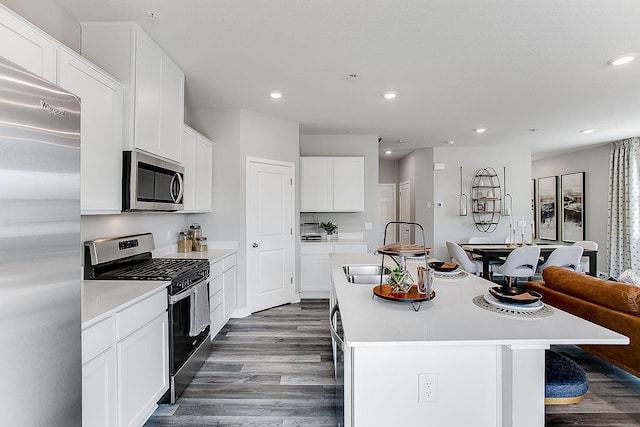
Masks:
[[[237,108],[191,108],[190,122],[213,141],[213,212],[193,217],[209,239],[238,242],[238,308],[246,309],[246,158],[293,163],[297,174],[299,126]]]

